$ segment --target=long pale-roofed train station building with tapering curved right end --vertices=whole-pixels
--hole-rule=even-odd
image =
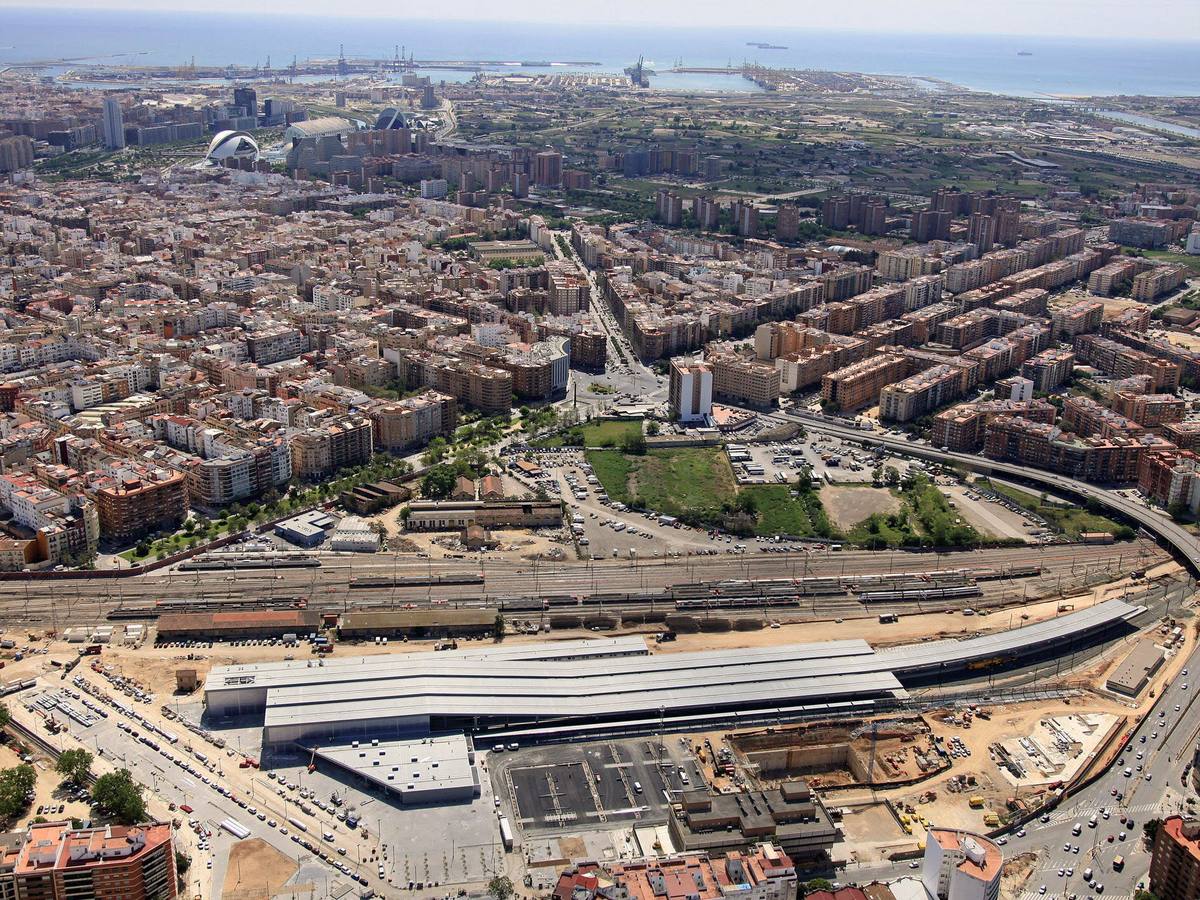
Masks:
[[[1008,631],[880,652],[852,640],[652,655],[642,638],[622,637],[216,666],[205,704],[218,718],[263,714],[266,743],[280,745],[871,703],[934,677],[968,677],[974,661],[1015,664],[1086,647],[1144,611],[1106,600]]]

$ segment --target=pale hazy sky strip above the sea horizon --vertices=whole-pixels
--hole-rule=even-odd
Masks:
[[[4,6],[211,10],[380,18],[504,19],[563,24],[838,29],[1200,41],[1198,0],[0,0]],[[0,16],[0,34],[2,34]],[[1200,64],[1198,64],[1200,65]],[[1200,71],[1200,68],[1198,68]],[[1198,78],[1200,80],[1200,78]]]

